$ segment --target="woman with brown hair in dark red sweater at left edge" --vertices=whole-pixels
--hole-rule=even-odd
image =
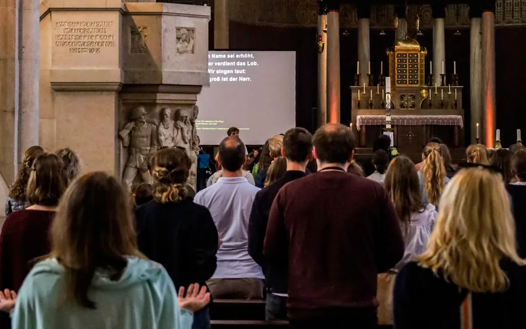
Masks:
[[[25,192],[29,207],[7,216],[0,233],[0,287],[14,291],[34,258],[49,253],[48,231],[58,200],[66,190],[62,160],[55,154],[39,155],[29,172]],[[0,315],[1,327],[9,327],[9,316]]]

